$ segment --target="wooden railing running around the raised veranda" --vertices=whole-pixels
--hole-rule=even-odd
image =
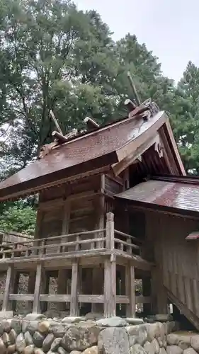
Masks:
[[[64,234],[45,237],[42,239],[29,239],[24,242],[13,242],[0,245],[0,262],[16,258],[55,257],[76,253],[93,253],[95,251],[113,251],[120,253],[139,253],[140,242],[133,236],[114,229],[113,214],[107,214],[106,229],[95,229],[86,232]],[[137,244],[135,244],[137,243]]]

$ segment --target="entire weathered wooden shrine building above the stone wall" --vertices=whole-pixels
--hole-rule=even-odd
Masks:
[[[172,302],[199,328],[199,180],[186,176],[166,113],[147,101],[106,126],[85,124],[55,132],[40,159],[0,183],[1,202],[39,193],[35,239],[20,251],[1,245],[2,311],[25,299],[32,312],[54,302],[71,316],[135,316],[136,304],[165,314]]]

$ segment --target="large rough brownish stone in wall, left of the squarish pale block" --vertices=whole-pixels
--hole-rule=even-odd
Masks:
[[[70,350],[85,350],[95,346],[101,329],[98,326],[78,327],[72,326],[62,338],[62,347]]]

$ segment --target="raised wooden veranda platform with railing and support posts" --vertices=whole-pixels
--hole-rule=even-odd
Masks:
[[[3,311],[14,309],[16,301],[23,300],[30,302],[33,312],[45,311],[48,302],[68,303],[71,316],[79,314],[81,303],[91,303],[93,308],[97,304],[105,316],[116,314],[116,304],[125,304],[127,316],[135,316],[136,302],[151,301],[135,296],[135,268],[149,272],[152,264],[140,256],[142,245],[135,237],[114,229],[112,213],[107,214],[106,229],[28,240],[20,249],[18,244],[0,251],[0,270],[6,271],[6,287],[0,297]],[[89,268],[92,278],[86,276],[86,280]],[[117,294],[116,270],[123,273],[124,295]],[[56,271],[58,295],[50,295],[50,272]],[[29,277],[28,294],[18,294],[20,273]],[[95,286],[90,286],[89,294],[91,284]]]

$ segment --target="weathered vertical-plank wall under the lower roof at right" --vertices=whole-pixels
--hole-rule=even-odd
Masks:
[[[154,244],[157,267],[152,273],[152,295],[160,313],[166,312],[167,297],[193,322],[199,318],[198,240],[186,236],[198,230],[198,220],[159,212],[147,212],[147,236]],[[147,253],[145,253],[147,257]],[[197,324],[198,322],[198,324]],[[199,326],[199,319],[195,319]]]

